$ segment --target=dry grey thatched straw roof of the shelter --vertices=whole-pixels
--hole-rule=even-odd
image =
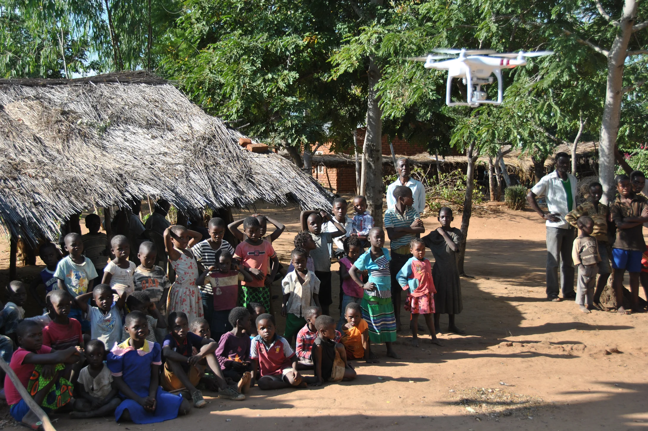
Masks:
[[[148,72],[0,80],[0,222],[32,241],[93,204],[163,197],[183,212],[262,199],[323,208],[332,195]],[[256,142],[253,140],[253,142]]]

